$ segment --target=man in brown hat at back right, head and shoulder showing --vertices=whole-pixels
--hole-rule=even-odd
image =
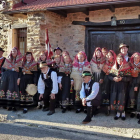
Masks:
[[[128,52],[129,46],[121,43],[119,46],[120,53],[124,56],[126,62],[130,61],[131,53]]]

